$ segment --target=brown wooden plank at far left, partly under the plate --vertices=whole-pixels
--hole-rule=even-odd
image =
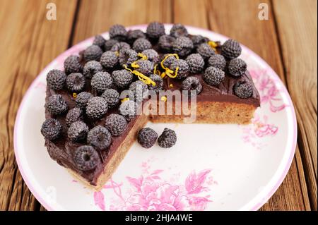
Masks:
[[[57,20],[47,20],[47,3]],[[76,1],[0,2],[0,210],[34,210],[40,204],[25,186],[13,153],[13,126],[23,94],[38,73],[68,47]],[[31,13],[32,12],[32,13]]]

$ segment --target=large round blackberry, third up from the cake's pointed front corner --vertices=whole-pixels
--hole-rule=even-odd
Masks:
[[[107,102],[102,97],[92,97],[88,99],[86,114],[88,117],[97,119],[106,114],[108,110]]]

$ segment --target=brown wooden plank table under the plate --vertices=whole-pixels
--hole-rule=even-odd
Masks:
[[[47,20],[47,3],[57,20]],[[259,20],[261,2],[269,20]],[[281,187],[261,210],[317,210],[316,0],[0,0],[0,209],[44,209],[20,176],[13,126],[20,101],[45,66],[73,44],[125,26],[183,23],[237,39],[278,73],[295,104],[298,145]]]

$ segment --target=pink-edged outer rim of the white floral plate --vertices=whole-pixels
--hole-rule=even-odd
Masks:
[[[171,24],[165,24],[165,25],[171,25]],[[135,25],[135,26],[131,26],[131,27],[127,27],[127,29],[144,29],[146,28],[147,25]],[[201,31],[201,32],[209,32],[212,35],[217,35],[223,39],[228,39],[228,37],[224,36],[224,35],[220,35],[217,34],[215,32],[212,32],[211,30],[206,30],[203,28],[196,28],[196,27],[192,27],[187,25],[187,28],[190,28],[192,30],[196,30],[196,31]],[[107,32],[103,33],[102,35],[106,35]],[[42,198],[42,196],[37,193],[37,191],[35,190],[35,188],[33,187],[31,181],[28,179],[28,176],[26,175],[25,171],[23,170],[23,166],[20,163],[20,155],[19,155],[19,150],[18,150],[18,138],[17,138],[17,130],[19,130],[19,126],[20,126],[20,114],[21,111],[25,105],[25,101],[26,99],[28,99],[29,95],[30,95],[30,91],[33,90],[33,88],[35,87],[35,85],[37,84],[37,81],[40,80],[41,75],[45,75],[44,71],[47,71],[47,68],[51,67],[55,61],[57,61],[58,59],[62,58],[65,55],[69,55],[69,54],[74,54],[76,52],[75,49],[77,49],[78,46],[85,44],[86,42],[89,42],[93,40],[93,37],[90,37],[88,39],[83,40],[82,42],[79,42],[78,44],[74,45],[73,47],[71,47],[70,49],[64,51],[64,53],[60,54],[59,56],[57,56],[56,59],[54,59],[54,61],[52,61],[51,63],[49,63],[49,65],[47,65],[39,75],[37,75],[37,78],[35,78],[35,80],[33,80],[33,83],[31,83],[30,87],[28,88],[27,92],[25,92],[25,95],[22,99],[22,102],[20,103],[20,107],[18,109],[18,113],[16,115],[16,122],[15,122],[15,126],[14,126],[14,140],[13,140],[13,145],[14,145],[14,152],[16,155],[16,162],[18,164],[18,168],[20,170],[20,174],[23,177],[23,180],[25,181],[26,185],[28,186],[28,188],[30,189],[31,193],[33,193],[33,195],[35,196],[35,198],[45,207],[45,209],[49,210],[49,211],[53,211],[53,207],[51,205],[49,205],[47,203],[47,201]],[[242,48],[247,51],[249,54],[251,54],[257,61],[259,64],[261,64],[262,66],[266,67],[269,69],[269,73],[271,74],[271,76],[273,78],[275,78],[275,80],[278,80],[278,82],[280,83],[282,89],[281,91],[285,93],[285,96],[287,97],[287,101],[288,101],[288,106],[291,110],[291,114],[293,117],[293,144],[291,145],[292,147],[290,148],[290,150],[288,150],[288,152],[290,152],[289,157],[288,157],[288,162],[285,164],[285,169],[283,169],[283,172],[281,174],[281,176],[278,178],[278,181],[276,182],[276,184],[271,188],[271,190],[265,194],[266,197],[262,198],[259,202],[257,202],[257,204],[255,204],[253,207],[251,207],[249,210],[258,210],[262,205],[264,205],[269,198],[276,192],[276,190],[278,189],[279,186],[281,186],[281,183],[283,182],[285,176],[288,173],[288,170],[290,169],[290,165],[293,162],[293,157],[295,154],[295,148],[296,148],[296,140],[297,140],[297,121],[296,121],[296,115],[295,115],[295,108],[293,107],[293,102],[290,99],[290,95],[288,93],[288,90],[286,89],[285,85],[283,85],[283,82],[281,81],[281,79],[278,77],[278,75],[275,73],[275,71],[273,71],[273,69],[271,68],[271,66],[269,66],[268,63],[266,63],[263,59],[261,59],[260,56],[258,56],[257,54],[254,53],[254,51],[252,51],[251,49],[245,47],[244,45],[242,45]]]

